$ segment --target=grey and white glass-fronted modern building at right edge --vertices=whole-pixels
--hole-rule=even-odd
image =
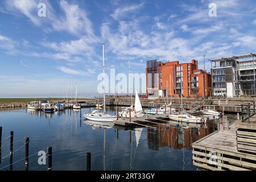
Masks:
[[[255,96],[256,53],[210,60],[213,96]]]

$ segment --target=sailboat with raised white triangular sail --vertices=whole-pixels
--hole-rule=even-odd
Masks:
[[[134,110],[133,110],[133,105],[131,107],[123,108],[121,113],[119,113],[119,117],[130,118],[130,110],[131,110],[131,118],[141,118],[144,116],[141,101],[139,100],[139,95],[137,90],[136,90]]]

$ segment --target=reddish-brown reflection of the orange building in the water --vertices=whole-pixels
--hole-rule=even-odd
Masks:
[[[183,148],[191,148],[191,143],[199,140],[209,134],[209,130],[204,127],[170,127],[166,130],[164,126],[158,126],[157,134],[152,129],[147,129],[148,148],[151,150],[159,150],[159,147],[170,147],[175,150]]]

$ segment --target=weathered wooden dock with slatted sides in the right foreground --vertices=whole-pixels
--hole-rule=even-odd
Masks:
[[[246,152],[246,149],[241,150],[241,146],[246,148],[244,147],[245,143],[241,143],[241,141],[255,147],[256,135],[253,133],[252,138],[246,139],[245,133],[239,132],[241,125],[249,126],[248,123],[238,120],[229,125],[228,130],[216,131],[192,143],[193,165],[213,171],[255,170],[256,155],[251,152],[252,150],[250,152],[249,150]],[[256,124],[254,125],[256,129]],[[239,139],[239,136],[242,139]]]

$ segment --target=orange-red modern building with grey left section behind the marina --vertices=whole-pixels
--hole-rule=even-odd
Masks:
[[[198,61],[162,63],[147,61],[147,94],[149,98],[158,97],[208,97],[211,96],[211,76],[198,69]]]

